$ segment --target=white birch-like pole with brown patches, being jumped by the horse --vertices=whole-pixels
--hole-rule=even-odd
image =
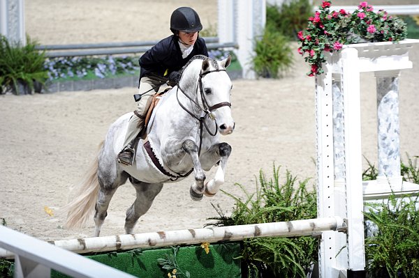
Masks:
[[[230,242],[244,240],[245,238],[318,235],[321,231],[344,232],[346,231],[346,222],[341,217],[324,217],[288,222],[219,226],[202,229],[183,229],[152,233],[110,235],[97,238],[55,240],[50,243],[55,245],[55,247],[60,247],[78,254],[84,254],[136,248],[193,245],[202,242]],[[0,247],[1,241],[4,240],[0,238]],[[52,245],[51,247],[53,247]],[[9,247],[13,247],[13,245],[9,245]],[[9,250],[12,252],[14,251],[11,248],[9,248]],[[5,251],[6,250],[0,249],[0,257],[10,257],[12,255],[10,252]]]

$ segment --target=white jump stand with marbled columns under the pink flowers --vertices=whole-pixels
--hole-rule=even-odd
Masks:
[[[346,235],[323,232],[321,277],[365,277],[364,200],[419,190],[402,183],[399,154],[398,79],[400,70],[412,68],[415,43],[345,45],[328,55],[316,77],[318,217],[348,222]],[[374,72],[377,82],[378,178],[369,183],[362,183],[360,72]]]

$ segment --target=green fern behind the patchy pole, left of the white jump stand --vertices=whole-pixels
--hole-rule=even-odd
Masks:
[[[289,171],[281,184],[279,167],[273,166],[273,177],[266,178],[259,172],[256,191],[244,193],[242,200],[223,191],[235,200],[235,208],[227,217],[220,206],[216,208],[218,217],[216,226],[255,224],[266,222],[289,221],[293,219],[315,218],[316,192],[308,190],[309,179],[297,180]],[[247,266],[248,277],[305,277],[309,268],[318,259],[318,242],[311,237],[298,238],[253,238],[243,242],[242,260]]]

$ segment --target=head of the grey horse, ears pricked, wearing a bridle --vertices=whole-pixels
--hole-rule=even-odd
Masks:
[[[219,132],[227,135],[233,132],[235,122],[231,116],[231,80],[226,68],[231,56],[222,60],[203,59],[198,78],[198,104],[214,118]]]

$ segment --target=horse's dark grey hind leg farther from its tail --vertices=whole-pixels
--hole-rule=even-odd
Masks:
[[[163,183],[143,183],[134,178],[130,178],[131,183],[137,192],[137,198],[128,210],[126,210],[125,232],[133,233],[133,229],[138,219],[147,213],[152,206],[154,198],[161,192]]]

